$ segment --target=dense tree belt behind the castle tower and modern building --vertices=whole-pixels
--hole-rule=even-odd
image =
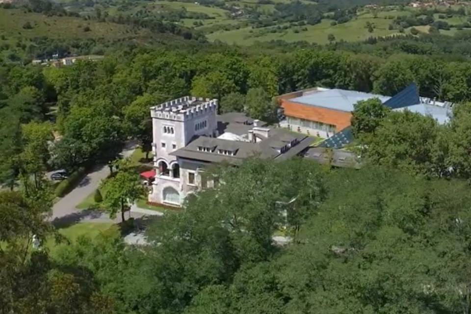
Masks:
[[[29,172],[19,158],[35,142],[23,134],[28,126],[49,128],[62,138],[51,154],[46,149],[36,156],[39,170],[73,170],[113,159],[130,136],[150,150],[148,108],[187,94],[220,99],[220,112],[245,110],[267,121],[276,120],[272,97],[312,86],[394,95],[416,82],[421,96],[453,103],[471,99],[467,60],[412,54],[385,59],[329,49],[134,49],[64,68],[5,65],[1,73],[0,177],[9,186]],[[39,133],[41,142],[51,140],[48,132]]]

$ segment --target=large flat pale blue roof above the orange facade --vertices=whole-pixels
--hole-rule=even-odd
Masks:
[[[384,103],[391,97],[357,92],[353,90],[328,89],[323,91],[312,92],[301,97],[296,97],[291,99],[290,101],[303,105],[312,105],[317,107],[324,107],[328,109],[350,112],[355,109],[354,105],[356,103],[371,98],[379,98],[381,102]]]

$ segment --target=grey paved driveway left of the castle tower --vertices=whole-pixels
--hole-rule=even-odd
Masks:
[[[135,145],[128,145],[123,150],[123,157],[129,157],[135,150]],[[55,225],[70,225],[82,220],[91,222],[119,222],[120,215],[116,219],[109,219],[108,214],[98,210],[77,209],[76,206],[88,195],[93,193],[103,179],[109,175],[109,169],[106,165],[100,165],[78,183],[69,194],[60,199],[52,207],[52,217],[50,218]],[[142,216],[139,213],[133,213],[133,217]]]

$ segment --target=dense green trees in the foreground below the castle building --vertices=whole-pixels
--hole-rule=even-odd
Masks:
[[[65,246],[54,258],[44,250],[23,255],[19,244],[30,232],[47,232],[42,212],[24,216],[22,209],[36,207],[18,192],[1,192],[1,240],[8,246],[0,252],[0,312],[470,308],[467,183],[387,168],[329,171],[307,160],[251,160],[217,171],[227,184],[149,227],[154,244],[128,247],[110,230]],[[293,197],[285,221],[276,200]],[[271,242],[280,226],[292,230],[286,248]]]

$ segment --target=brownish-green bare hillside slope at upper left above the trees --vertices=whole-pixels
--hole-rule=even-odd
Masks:
[[[0,8],[0,60],[51,58],[53,53],[102,54],[117,45],[180,41],[185,41],[182,36],[140,26]]]

